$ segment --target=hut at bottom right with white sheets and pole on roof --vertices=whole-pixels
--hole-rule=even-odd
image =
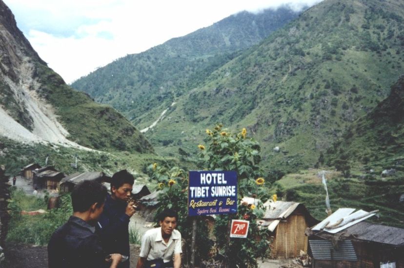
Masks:
[[[375,215],[339,209],[308,232],[312,267],[404,268],[404,229],[364,221]]]

